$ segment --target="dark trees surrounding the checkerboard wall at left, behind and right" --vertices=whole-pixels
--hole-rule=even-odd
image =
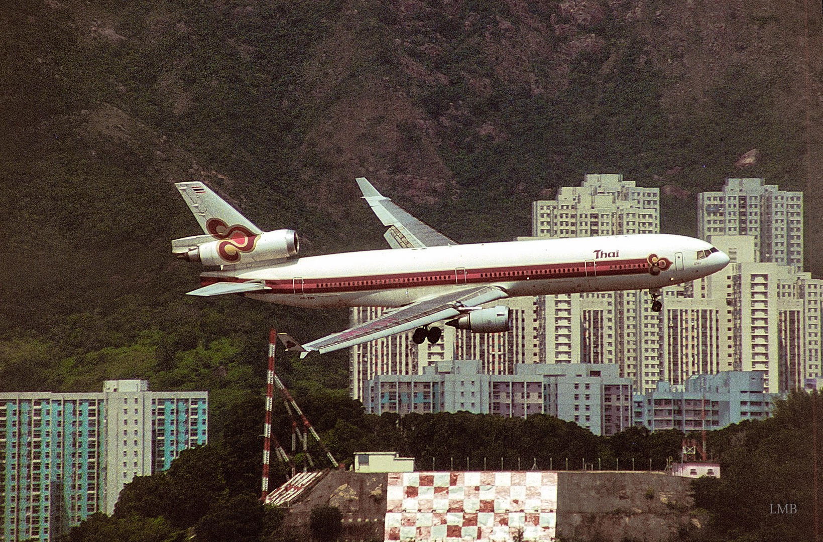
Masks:
[[[318,401],[320,399],[320,401]],[[701,519],[677,540],[690,542],[805,542],[814,529],[812,423],[807,413],[821,396],[796,393],[781,401],[774,417],[709,433],[709,451],[720,463],[720,479],[700,478],[692,484],[695,518]],[[223,436],[204,447],[184,451],[165,473],[139,477],[121,494],[112,517],[95,514],[72,529],[67,542],[134,540],[293,540],[277,531],[281,514],[256,501],[261,439],[257,436],[262,401],[244,401],[231,408]],[[631,428],[608,438],[595,437],[576,424],[544,415],[505,419],[457,414],[364,415],[355,401],[330,397],[307,400],[317,429],[337,457],[351,465],[351,454],[392,450],[416,458],[416,468],[429,470],[579,470],[582,458],[593,468],[663,470],[677,458],[686,435],[677,430],[649,433]],[[324,416],[331,410],[337,419]],[[290,424],[278,412],[273,427],[288,442]],[[475,435],[467,442],[466,434]],[[699,437],[697,434],[691,437]],[[818,442],[818,448],[823,448]],[[317,465],[330,467],[313,447]],[[818,449],[818,454],[821,449]],[[306,461],[304,454],[295,457]],[[568,461],[568,463],[567,463]],[[467,466],[468,465],[468,466]],[[568,467],[567,467],[568,465]],[[590,467],[591,468],[591,467]],[[272,484],[286,477],[281,463]],[[777,504],[793,503],[793,514],[775,514]],[[694,522],[693,522],[694,523]],[[277,531],[277,535],[271,536]],[[216,538],[215,538],[216,537]]]

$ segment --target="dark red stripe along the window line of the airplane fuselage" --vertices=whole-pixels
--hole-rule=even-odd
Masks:
[[[591,260],[589,260],[591,262]],[[596,278],[602,276],[643,275],[649,272],[649,262],[643,258],[630,260],[595,261],[595,267],[586,268],[585,262],[557,263],[544,266],[484,267],[477,269],[395,273],[387,275],[345,276],[330,278],[295,277],[292,279],[266,280],[272,290],[267,294],[295,294],[296,289],[305,294],[342,294],[368,290],[390,290],[416,286],[443,286],[482,284],[512,280],[558,280]],[[463,280],[465,277],[465,280]],[[245,282],[234,276],[202,276],[201,285],[216,282]]]

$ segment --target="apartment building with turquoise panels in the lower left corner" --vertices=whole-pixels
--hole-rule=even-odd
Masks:
[[[135,476],[165,470],[207,442],[206,391],[148,391],[110,380],[102,393],[0,393],[2,540],[56,540],[114,512]]]

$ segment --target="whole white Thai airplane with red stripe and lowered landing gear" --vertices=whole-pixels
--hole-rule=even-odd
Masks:
[[[280,334],[288,350],[305,356],[412,329],[417,344],[434,343],[442,330],[430,325],[440,320],[476,333],[509,331],[508,307],[481,305],[518,296],[648,289],[652,310],[659,312],[660,288],[728,264],[711,244],[670,234],[461,245],[403,211],[365,178],[357,184],[389,226],[384,237],[391,250],[300,257],[294,230],[263,232],[205,184],[176,183],[205,234],[174,239],[172,252],[220,267],[202,273],[202,288],[188,294],[242,294],[308,308],[397,308],[305,345]]]

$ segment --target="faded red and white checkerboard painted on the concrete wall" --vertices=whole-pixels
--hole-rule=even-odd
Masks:
[[[556,472],[389,473],[385,540],[554,540]]]

